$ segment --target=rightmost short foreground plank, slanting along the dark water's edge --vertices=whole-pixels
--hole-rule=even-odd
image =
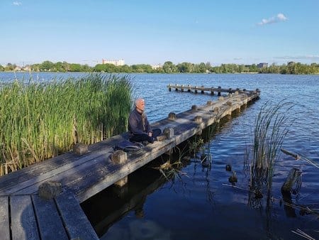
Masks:
[[[99,239],[71,192],[62,192],[55,201],[70,239]]]

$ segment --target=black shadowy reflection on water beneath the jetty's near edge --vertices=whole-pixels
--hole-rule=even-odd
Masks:
[[[112,185],[82,203],[84,212],[99,236],[130,211],[135,212],[137,219],[144,217],[143,206],[147,195],[167,181],[158,170],[145,168],[129,175],[127,186],[118,188]]]

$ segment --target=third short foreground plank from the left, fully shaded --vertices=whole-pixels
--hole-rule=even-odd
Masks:
[[[41,239],[69,239],[59,212],[57,212],[55,201],[43,200],[38,195],[32,195],[32,200]]]

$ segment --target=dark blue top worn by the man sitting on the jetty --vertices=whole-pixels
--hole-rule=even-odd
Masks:
[[[141,114],[134,109],[128,118],[128,131],[130,131],[132,134],[145,134],[152,131],[146,114]]]

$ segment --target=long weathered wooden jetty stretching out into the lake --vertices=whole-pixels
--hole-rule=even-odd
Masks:
[[[213,88],[200,88],[212,90],[216,92]],[[77,154],[70,151],[4,175],[0,178],[1,239],[98,239],[80,203],[110,185],[123,187],[130,173],[200,134],[207,126],[231,116],[233,111],[245,108],[259,94],[258,89],[228,89],[228,96],[218,97],[217,101],[194,105],[179,114],[171,112],[166,119],[152,124],[164,131],[166,139],[148,144],[135,154],[113,150],[128,138],[123,133],[84,147]],[[62,193],[49,200],[38,197],[39,187],[45,182],[59,183]]]

